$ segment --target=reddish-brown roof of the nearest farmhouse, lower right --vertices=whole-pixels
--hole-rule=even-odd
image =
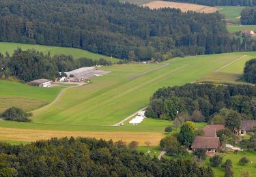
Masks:
[[[218,137],[197,136],[191,148],[218,148],[219,144],[220,138]]]

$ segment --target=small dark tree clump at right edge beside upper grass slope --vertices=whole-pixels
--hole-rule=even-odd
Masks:
[[[246,61],[242,79],[256,84],[256,59]]]

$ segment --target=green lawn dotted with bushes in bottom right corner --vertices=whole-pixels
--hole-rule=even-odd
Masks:
[[[223,162],[225,162],[227,159],[230,159],[233,163],[233,174],[234,176],[241,176],[244,172],[249,172],[250,176],[254,176],[256,173],[256,152],[253,151],[244,151],[244,152],[238,152],[238,154],[235,154],[234,152],[227,152],[227,153],[219,153],[218,155],[223,156]],[[238,161],[242,158],[246,157],[252,163],[248,163],[246,165],[240,165]],[[210,166],[209,158],[205,160],[205,165]],[[221,167],[212,167],[212,170],[214,170],[215,176],[224,176],[224,170]]]

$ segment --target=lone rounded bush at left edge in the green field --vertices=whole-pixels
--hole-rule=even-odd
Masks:
[[[32,116],[32,113],[27,113],[24,110],[16,107],[8,108],[1,115],[4,120],[11,120],[16,122],[31,122],[29,116]]]

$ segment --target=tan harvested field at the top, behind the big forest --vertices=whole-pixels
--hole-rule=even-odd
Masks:
[[[171,7],[182,10],[182,12],[187,12],[189,10],[195,12],[205,12],[212,13],[218,10],[217,7],[210,7],[206,5],[197,5],[191,3],[175,3],[175,2],[167,2],[167,1],[152,1],[150,3],[145,3],[142,5],[143,7],[150,7],[150,9],[160,9],[165,7]]]

